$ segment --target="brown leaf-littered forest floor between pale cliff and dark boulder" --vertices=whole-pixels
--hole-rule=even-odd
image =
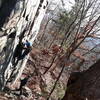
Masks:
[[[30,53],[30,58],[21,76],[23,79],[24,77],[31,75],[27,85],[25,86],[27,89],[23,88],[24,92],[29,91],[27,96],[24,95],[25,93],[23,95],[15,95],[16,92],[13,91],[10,93],[1,93],[0,100],[46,100],[61,71],[61,67],[56,65],[54,71],[48,71],[46,74],[43,74],[50,66],[54,56],[52,53],[50,53],[51,51],[52,50],[47,50],[45,52],[45,50],[34,48]],[[58,100],[58,98],[63,97],[69,72],[70,70],[65,68],[51,96],[51,100]],[[19,87],[19,84],[20,82],[18,81],[15,84],[15,89]]]

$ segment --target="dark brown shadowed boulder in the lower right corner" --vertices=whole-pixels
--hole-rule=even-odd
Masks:
[[[100,60],[87,71],[71,74],[62,100],[100,100]]]

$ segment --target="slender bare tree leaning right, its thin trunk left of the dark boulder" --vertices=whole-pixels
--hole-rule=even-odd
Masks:
[[[62,69],[47,100],[49,100],[50,96],[52,95],[55,86],[72,54],[89,36],[93,35],[95,30],[99,30],[99,28],[96,26],[100,21],[100,14],[97,10],[97,8],[100,6],[97,4],[98,0],[92,0],[88,3],[87,0],[79,0],[78,3],[76,3],[75,8],[70,12],[71,14],[74,14],[74,18],[71,20],[68,28],[66,29],[65,35],[61,42],[61,47],[66,45],[65,53],[63,54],[62,60],[59,64]],[[88,17],[87,14],[89,14]],[[80,38],[81,36],[82,38]]]

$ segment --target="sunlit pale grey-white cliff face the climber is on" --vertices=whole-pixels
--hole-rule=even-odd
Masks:
[[[0,37],[0,89],[10,80],[21,76],[28,56],[13,65],[13,54],[19,42],[28,39],[31,43],[37,37],[41,21],[48,5],[47,0],[4,0],[0,7],[0,28],[6,35]],[[14,37],[9,38],[13,33]],[[2,47],[2,48],[1,48]]]

